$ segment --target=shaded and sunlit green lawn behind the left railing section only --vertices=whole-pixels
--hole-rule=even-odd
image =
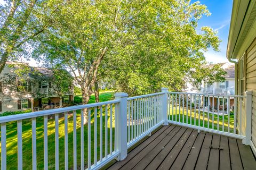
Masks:
[[[113,99],[114,92],[105,92],[100,94],[100,101]],[[91,97],[89,103],[94,103],[94,96]],[[114,111],[114,108],[113,108]],[[36,113],[35,113],[36,114]],[[108,124],[109,122],[108,108]],[[54,116],[52,116],[54,117]],[[59,167],[63,169],[65,166],[64,158],[64,118],[63,114],[59,114]],[[99,111],[97,116],[97,136],[98,136],[98,159],[99,159]],[[113,116],[113,150],[114,150],[114,133],[115,133],[115,118]],[[103,127],[105,127],[105,107],[103,107]],[[94,111],[91,112],[91,158],[93,164],[94,158]],[[54,118],[48,120],[48,156],[49,169],[55,169],[55,122]],[[44,168],[44,147],[43,147],[43,117],[36,119],[36,135],[37,135],[37,168]],[[17,122],[6,124],[7,129],[7,169],[17,169]],[[31,119],[22,121],[22,151],[23,151],[23,169],[32,168],[32,137],[31,137]],[[108,125],[108,145],[109,145],[109,125]],[[77,165],[81,163],[81,114],[77,111]],[[108,146],[109,148],[109,146]],[[87,165],[87,125],[84,125],[84,151],[85,151],[85,166]],[[109,150],[108,150],[109,152]],[[73,167],[73,114],[68,115],[68,154],[69,167]],[[105,155],[105,128],[103,128],[103,157]]]

